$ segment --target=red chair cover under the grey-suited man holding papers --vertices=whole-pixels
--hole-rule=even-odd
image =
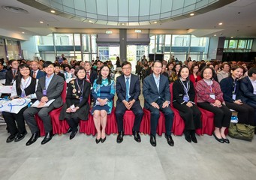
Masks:
[[[63,91],[62,91],[63,103],[66,102],[66,95],[67,95],[67,83],[64,83]],[[56,133],[62,134],[62,126],[61,126],[61,122],[59,121],[59,115],[60,115],[61,110],[62,110],[62,107],[59,107],[55,110],[52,110],[49,113],[51,120],[52,120],[52,124],[53,124],[53,134],[56,134]],[[41,120],[41,118],[39,118],[38,114],[35,115],[35,119],[38,123],[38,128],[40,129],[41,136],[44,136],[45,130],[44,130],[43,121]]]

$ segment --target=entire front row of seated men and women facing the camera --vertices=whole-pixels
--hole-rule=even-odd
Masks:
[[[26,136],[25,119],[32,132],[32,136],[26,142],[26,145],[34,143],[40,136],[35,114],[38,114],[44,123],[46,136],[41,144],[49,142],[53,137],[53,127],[49,113],[63,105],[61,95],[64,80],[54,74],[52,62],[45,62],[43,67],[47,75],[39,80],[32,77],[28,65],[23,64],[18,68],[18,77],[14,81],[11,98],[26,97],[31,98],[32,102],[37,98],[40,104],[38,107],[24,107],[18,114],[3,112],[8,130],[11,133],[7,142],[17,142]],[[170,109],[170,86],[168,78],[161,74],[161,68],[162,62],[155,61],[152,64],[152,74],[143,81],[144,107],[150,112],[149,142],[152,146],[156,146],[155,134],[161,111],[165,117],[166,133],[164,136],[167,143],[173,146],[174,142],[171,136],[173,111]],[[123,116],[126,110],[131,110],[135,115],[133,135],[137,142],[141,141],[139,131],[143,110],[140,107],[139,100],[140,81],[137,76],[131,74],[130,62],[122,64],[122,72],[123,75],[116,80],[116,89],[114,81],[110,78],[110,68],[107,65],[101,67],[98,79],[93,83],[92,96],[95,101],[91,113],[97,130],[96,143],[106,140],[107,114],[112,112],[115,92],[118,97],[116,101],[116,121],[119,131],[116,142],[121,143],[123,141],[125,134]],[[230,109],[238,112],[241,123],[254,124],[255,116],[252,117],[251,113],[256,112],[256,68],[251,68],[248,71],[248,77],[241,81],[239,78],[242,77],[243,72],[243,68],[240,66],[232,68],[231,76],[222,80],[219,85],[212,80],[214,74],[212,68],[203,68],[202,80],[197,82],[194,89],[193,83],[189,80],[188,68],[184,66],[179,70],[178,79],[173,83],[173,107],[179,110],[179,114],[185,122],[184,134],[188,142],[197,143],[195,130],[201,127],[198,107],[214,113],[215,130],[213,135],[221,143],[229,143],[224,131],[230,123]],[[71,80],[68,84],[66,103],[62,107],[59,117],[60,120],[66,119],[71,127],[70,139],[73,139],[76,135],[80,120],[88,119],[91,89],[91,84],[85,78],[86,71],[83,67],[77,68],[75,76],[77,79]],[[242,91],[239,91],[240,89]],[[44,107],[52,99],[55,99],[55,101],[49,107]],[[197,102],[197,105],[195,102]]]

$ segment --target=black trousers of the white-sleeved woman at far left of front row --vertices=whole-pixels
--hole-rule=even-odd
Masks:
[[[8,126],[8,130],[11,133],[11,135],[15,135],[16,133],[25,133],[26,132],[23,112],[27,108],[28,108],[27,106],[23,107],[23,109],[21,109],[20,112],[17,114],[8,113],[8,112],[2,113],[3,117],[5,118],[5,122]],[[17,125],[16,125],[16,123],[17,123]]]

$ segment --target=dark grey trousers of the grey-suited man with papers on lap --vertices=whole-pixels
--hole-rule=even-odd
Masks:
[[[41,120],[44,122],[45,133],[50,133],[50,131],[53,130],[52,121],[49,115],[49,113],[53,109],[54,109],[53,104],[50,104],[49,107],[43,107],[43,108],[29,107],[23,113],[26,123],[29,125],[29,129],[31,130],[31,133],[38,132],[38,124],[37,124],[37,121],[35,120],[35,114],[37,113],[38,113],[38,116],[41,118]]]

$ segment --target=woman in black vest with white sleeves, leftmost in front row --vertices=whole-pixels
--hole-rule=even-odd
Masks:
[[[14,81],[13,88],[11,89],[11,99],[14,98],[30,98],[32,102],[35,102],[36,95],[35,89],[37,86],[37,80],[32,78],[30,74],[29,65],[22,64],[19,66],[17,80]],[[23,118],[23,112],[28,106],[23,107],[19,113],[2,112],[5,122],[8,125],[8,130],[11,133],[8,136],[6,142],[18,142],[22,140],[26,134],[25,121]]]

